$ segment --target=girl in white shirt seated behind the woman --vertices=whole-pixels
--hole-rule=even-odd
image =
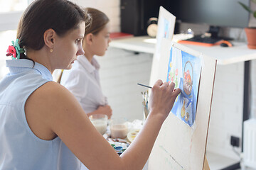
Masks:
[[[85,8],[92,17],[90,28],[85,30],[82,47],[85,55],[78,56],[72,69],[65,70],[60,84],[65,86],[78,99],[87,115],[104,114],[110,119],[112,109],[107,103],[100,86],[100,64],[95,55],[103,56],[109,46],[110,23],[109,18],[95,8]]]

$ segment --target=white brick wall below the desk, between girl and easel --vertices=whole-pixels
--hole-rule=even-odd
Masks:
[[[149,84],[152,59],[150,54],[111,47],[105,57],[97,57],[102,91],[112,107],[113,118],[143,119],[142,91],[147,89],[137,83]]]

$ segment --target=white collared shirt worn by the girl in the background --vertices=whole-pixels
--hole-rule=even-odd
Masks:
[[[91,64],[84,55],[78,56],[72,69],[63,72],[60,81],[78,99],[85,113],[107,104],[100,86],[99,69],[100,64],[95,57]]]

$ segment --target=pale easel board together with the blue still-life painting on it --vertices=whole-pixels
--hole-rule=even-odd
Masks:
[[[170,57],[172,58],[170,59]],[[191,62],[189,66],[187,66],[188,61]],[[203,55],[201,52],[196,52],[163,38],[161,42],[161,57],[159,62],[155,64],[158,67],[152,67],[153,70],[151,72],[154,73],[155,68],[158,70],[156,74],[151,75],[151,81],[156,81],[157,79],[175,81],[174,79],[178,77],[176,84],[178,84],[177,87],[181,88],[180,97],[183,95],[183,99],[181,98],[181,101],[179,101],[176,113],[172,113],[172,110],[162,125],[149,157],[149,170],[203,169],[216,60]],[[178,64],[179,66],[174,67],[173,64]],[[177,68],[178,72],[176,72]],[[193,77],[198,82],[195,82]],[[187,86],[183,86],[184,84]],[[191,89],[187,91],[186,88],[187,90]],[[194,90],[193,94],[191,94],[192,89]],[[186,99],[183,104],[184,98],[190,95],[193,96]],[[193,102],[196,104],[192,105]],[[184,113],[181,111],[183,106],[185,106]],[[187,112],[188,118],[186,120]],[[193,120],[188,120],[192,117]]]

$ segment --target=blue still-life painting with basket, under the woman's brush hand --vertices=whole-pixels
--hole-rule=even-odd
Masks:
[[[201,58],[171,47],[167,81],[181,89],[171,113],[193,128],[202,68]]]

